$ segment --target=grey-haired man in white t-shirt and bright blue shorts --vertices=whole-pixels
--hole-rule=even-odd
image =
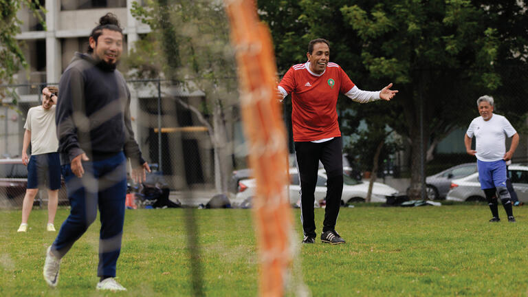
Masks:
[[[464,135],[465,150],[468,154],[476,156],[478,168],[478,181],[484,190],[489,209],[492,210],[490,222],[500,221],[498,217],[497,194],[508,221],[515,222],[511,209],[511,197],[506,187],[506,162],[511,159],[519,144],[519,135],[503,116],[493,113],[493,97],[482,96],[476,100],[478,118],[474,118]],[[476,149],[471,149],[471,140],[475,136]],[[506,151],[506,137],[511,137],[511,146]]]

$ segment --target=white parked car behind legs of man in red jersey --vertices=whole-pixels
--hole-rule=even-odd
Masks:
[[[358,181],[344,175],[343,193],[341,195],[341,204],[353,202],[363,202],[366,193],[369,190],[369,183]],[[297,168],[289,169],[289,202],[298,203],[300,200],[300,181]],[[256,179],[243,179],[239,181],[239,192],[236,198],[231,201],[233,206],[239,206],[243,201],[248,201],[255,195]],[[371,202],[386,202],[387,197],[395,197],[398,190],[387,186],[386,184],[375,182],[372,188]],[[315,191],[316,203],[327,197],[327,175],[324,169],[318,170],[317,184]]]

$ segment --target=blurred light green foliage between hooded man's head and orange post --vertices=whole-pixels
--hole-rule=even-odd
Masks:
[[[164,76],[191,91],[204,91],[208,99],[221,97],[227,106],[234,104],[228,94],[236,91],[236,65],[221,1],[145,2],[142,6],[134,1],[131,10],[152,30],[127,58],[135,70],[132,76]]]

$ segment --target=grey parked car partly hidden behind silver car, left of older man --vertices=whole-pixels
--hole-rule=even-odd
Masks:
[[[460,179],[476,173],[476,163],[465,163],[426,177],[426,194],[429,200],[444,199],[450,190],[452,179]]]

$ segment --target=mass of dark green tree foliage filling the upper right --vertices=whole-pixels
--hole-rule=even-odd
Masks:
[[[380,113],[378,120],[410,144],[414,181],[419,180],[416,164],[421,106],[426,149],[453,129],[467,126],[478,115],[474,102],[483,94],[496,98],[500,113],[511,117],[516,128],[526,126],[525,1],[258,3],[261,17],[272,30],[281,71],[306,61],[306,44],[322,37],[331,43],[331,61],[338,63],[360,89],[377,90],[395,84],[393,89],[399,94],[390,103],[363,105],[340,99],[340,115],[348,109],[354,111],[341,118],[341,127],[347,131],[344,135],[357,133],[354,126],[346,125]]]

